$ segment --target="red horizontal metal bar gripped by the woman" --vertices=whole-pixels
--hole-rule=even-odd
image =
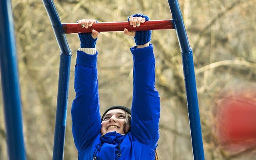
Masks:
[[[92,29],[98,32],[124,31],[124,28],[127,28],[129,31],[175,29],[172,20],[148,20],[136,28],[132,27],[129,22],[98,22],[88,29],[82,28],[77,23],[62,23],[62,28],[64,34],[90,33]]]

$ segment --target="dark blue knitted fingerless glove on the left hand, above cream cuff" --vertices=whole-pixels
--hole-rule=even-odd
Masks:
[[[96,21],[97,22],[97,21]],[[81,48],[95,48],[98,38],[92,38],[92,33],[78,33]]]

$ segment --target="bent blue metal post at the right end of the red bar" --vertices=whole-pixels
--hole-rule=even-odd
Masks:
[[[172,19],[176,28],[176,34],[178,36],[180,50],[182,53],[193,157],[194,160],[204,160],[204,147],[196,92],[193,52],[188,42],[188,36],[186,34],[178,0],[168,0],[168,3],[172,12]]]

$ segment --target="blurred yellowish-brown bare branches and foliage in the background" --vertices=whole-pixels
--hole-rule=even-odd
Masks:
[[[126,21],[135,13],[151,20],[172,19],[166,0],[55,0],[62,23],[94,18],[99,22]],[[256,159],[255,146],[228,152],[216,136],[216,106],[223,92],[256,85],[256,1],[180,0],[194,66],[206,160]],[[12,0],[24,139],[28,160],[52,159],[59,48],[41,1]],[[66,35],[72,50],[64,160],[76,160],[70,108],[75,97],[74,65],[80,46],[77,34]],[[156,56],[156,88],[161,96],[162,160],[191,160],[192,146],[182,59],[176,32],[152,32]],[[101,112],[110,106],[131,106],[134,40],[122,32],[102,32],[96,48]],[[0,93],[2,94],[2,92]],[[0,96],[0,160],[6,160],[2,95]]]

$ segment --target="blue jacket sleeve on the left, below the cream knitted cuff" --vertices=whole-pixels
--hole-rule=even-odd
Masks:
[[[92,144],[100,133],[97,55],[77,51],[74,88],[76,98],[71,108],[72,133],[78,151]]]

